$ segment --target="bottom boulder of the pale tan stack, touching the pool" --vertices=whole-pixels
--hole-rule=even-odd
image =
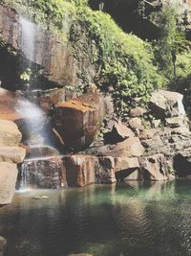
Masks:
[[[11,203],[15,192],[18,170],[15,164],[0,163],[0,204]]]

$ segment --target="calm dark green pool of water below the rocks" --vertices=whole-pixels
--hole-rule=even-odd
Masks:
[[[191,181],[19,193],[0,235],[6,256],[191,255]]]

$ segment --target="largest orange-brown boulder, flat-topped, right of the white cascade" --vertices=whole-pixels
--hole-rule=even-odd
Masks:
[[[74,150],[89,147],[104,117],[103,98],[97,92],[56,105],[56,130],[66,146]]]

